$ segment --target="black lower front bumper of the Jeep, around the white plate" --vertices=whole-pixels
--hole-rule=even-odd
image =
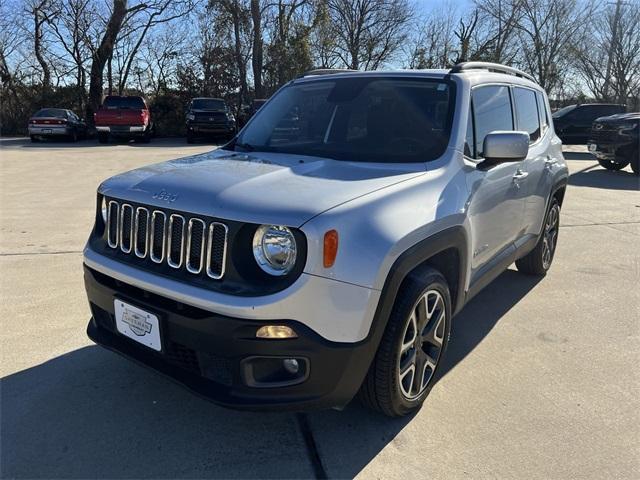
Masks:
[[[241,409],[342,407],[356,394],[375,353],[371,338],[331,342],[292,320],[269,323],[293,328],[298,338],[257,339],[265,324],[219,315],[128,285],[85,265],[85,287],[92,312],[87,334],[96,343],[170,377],[215,403]],[[114,299],[158,316],[162,352],[117,332]],[[314,308],[310,306],[309,308]],[[301,383],[249,386],[247,359],[300,358],[307,361]]]

